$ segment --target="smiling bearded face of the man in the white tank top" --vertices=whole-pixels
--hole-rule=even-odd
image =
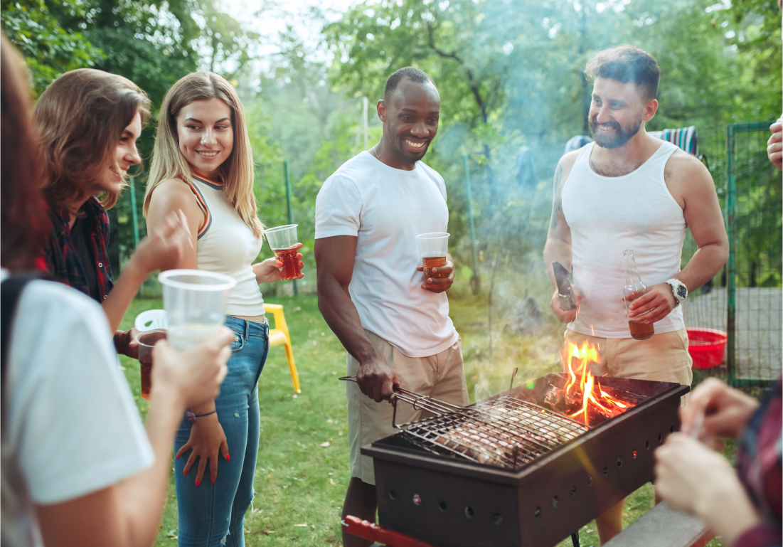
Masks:
[[[642,121],[652,119],[657,109],[658,101],[645,102],[635,83],[596,78],[590,103],[593,139],[600,147],[622,147],[639,132]]]

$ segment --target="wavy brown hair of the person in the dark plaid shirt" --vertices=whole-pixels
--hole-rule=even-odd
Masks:
[[[150,100],[117,74],[80,68],[52,82],[34,109],[47,201],[66,205],[85,197],[103,168],[115,162],[117,142],[136,112],[144,123]],[[110,209],[117,197],[119,193],[105,192],[99,199]]]

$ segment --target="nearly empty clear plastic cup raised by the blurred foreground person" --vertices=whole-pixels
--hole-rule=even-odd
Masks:
[[[205,270],[168,270],[163,284],[163,307],[168,317],[168,341],[186,351],[210,338],[226,322],[226,299],[236,280]]]

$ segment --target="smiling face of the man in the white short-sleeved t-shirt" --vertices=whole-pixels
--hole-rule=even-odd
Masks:
[[[403,78],[388,101],[379,101],[378,115],[384,122],[384,139],[397,160],[413,165],[424,158],[438,133],[438,90],[430,82]]]

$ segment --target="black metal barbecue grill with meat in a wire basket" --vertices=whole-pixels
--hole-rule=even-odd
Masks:
[[[362,448],[382,527],[440,547],[555,545],[653,479],[687,386],[601,378],[635,406],[588,427],[545,407],[551,374],[466,408],[398,393],[436,414]]]

